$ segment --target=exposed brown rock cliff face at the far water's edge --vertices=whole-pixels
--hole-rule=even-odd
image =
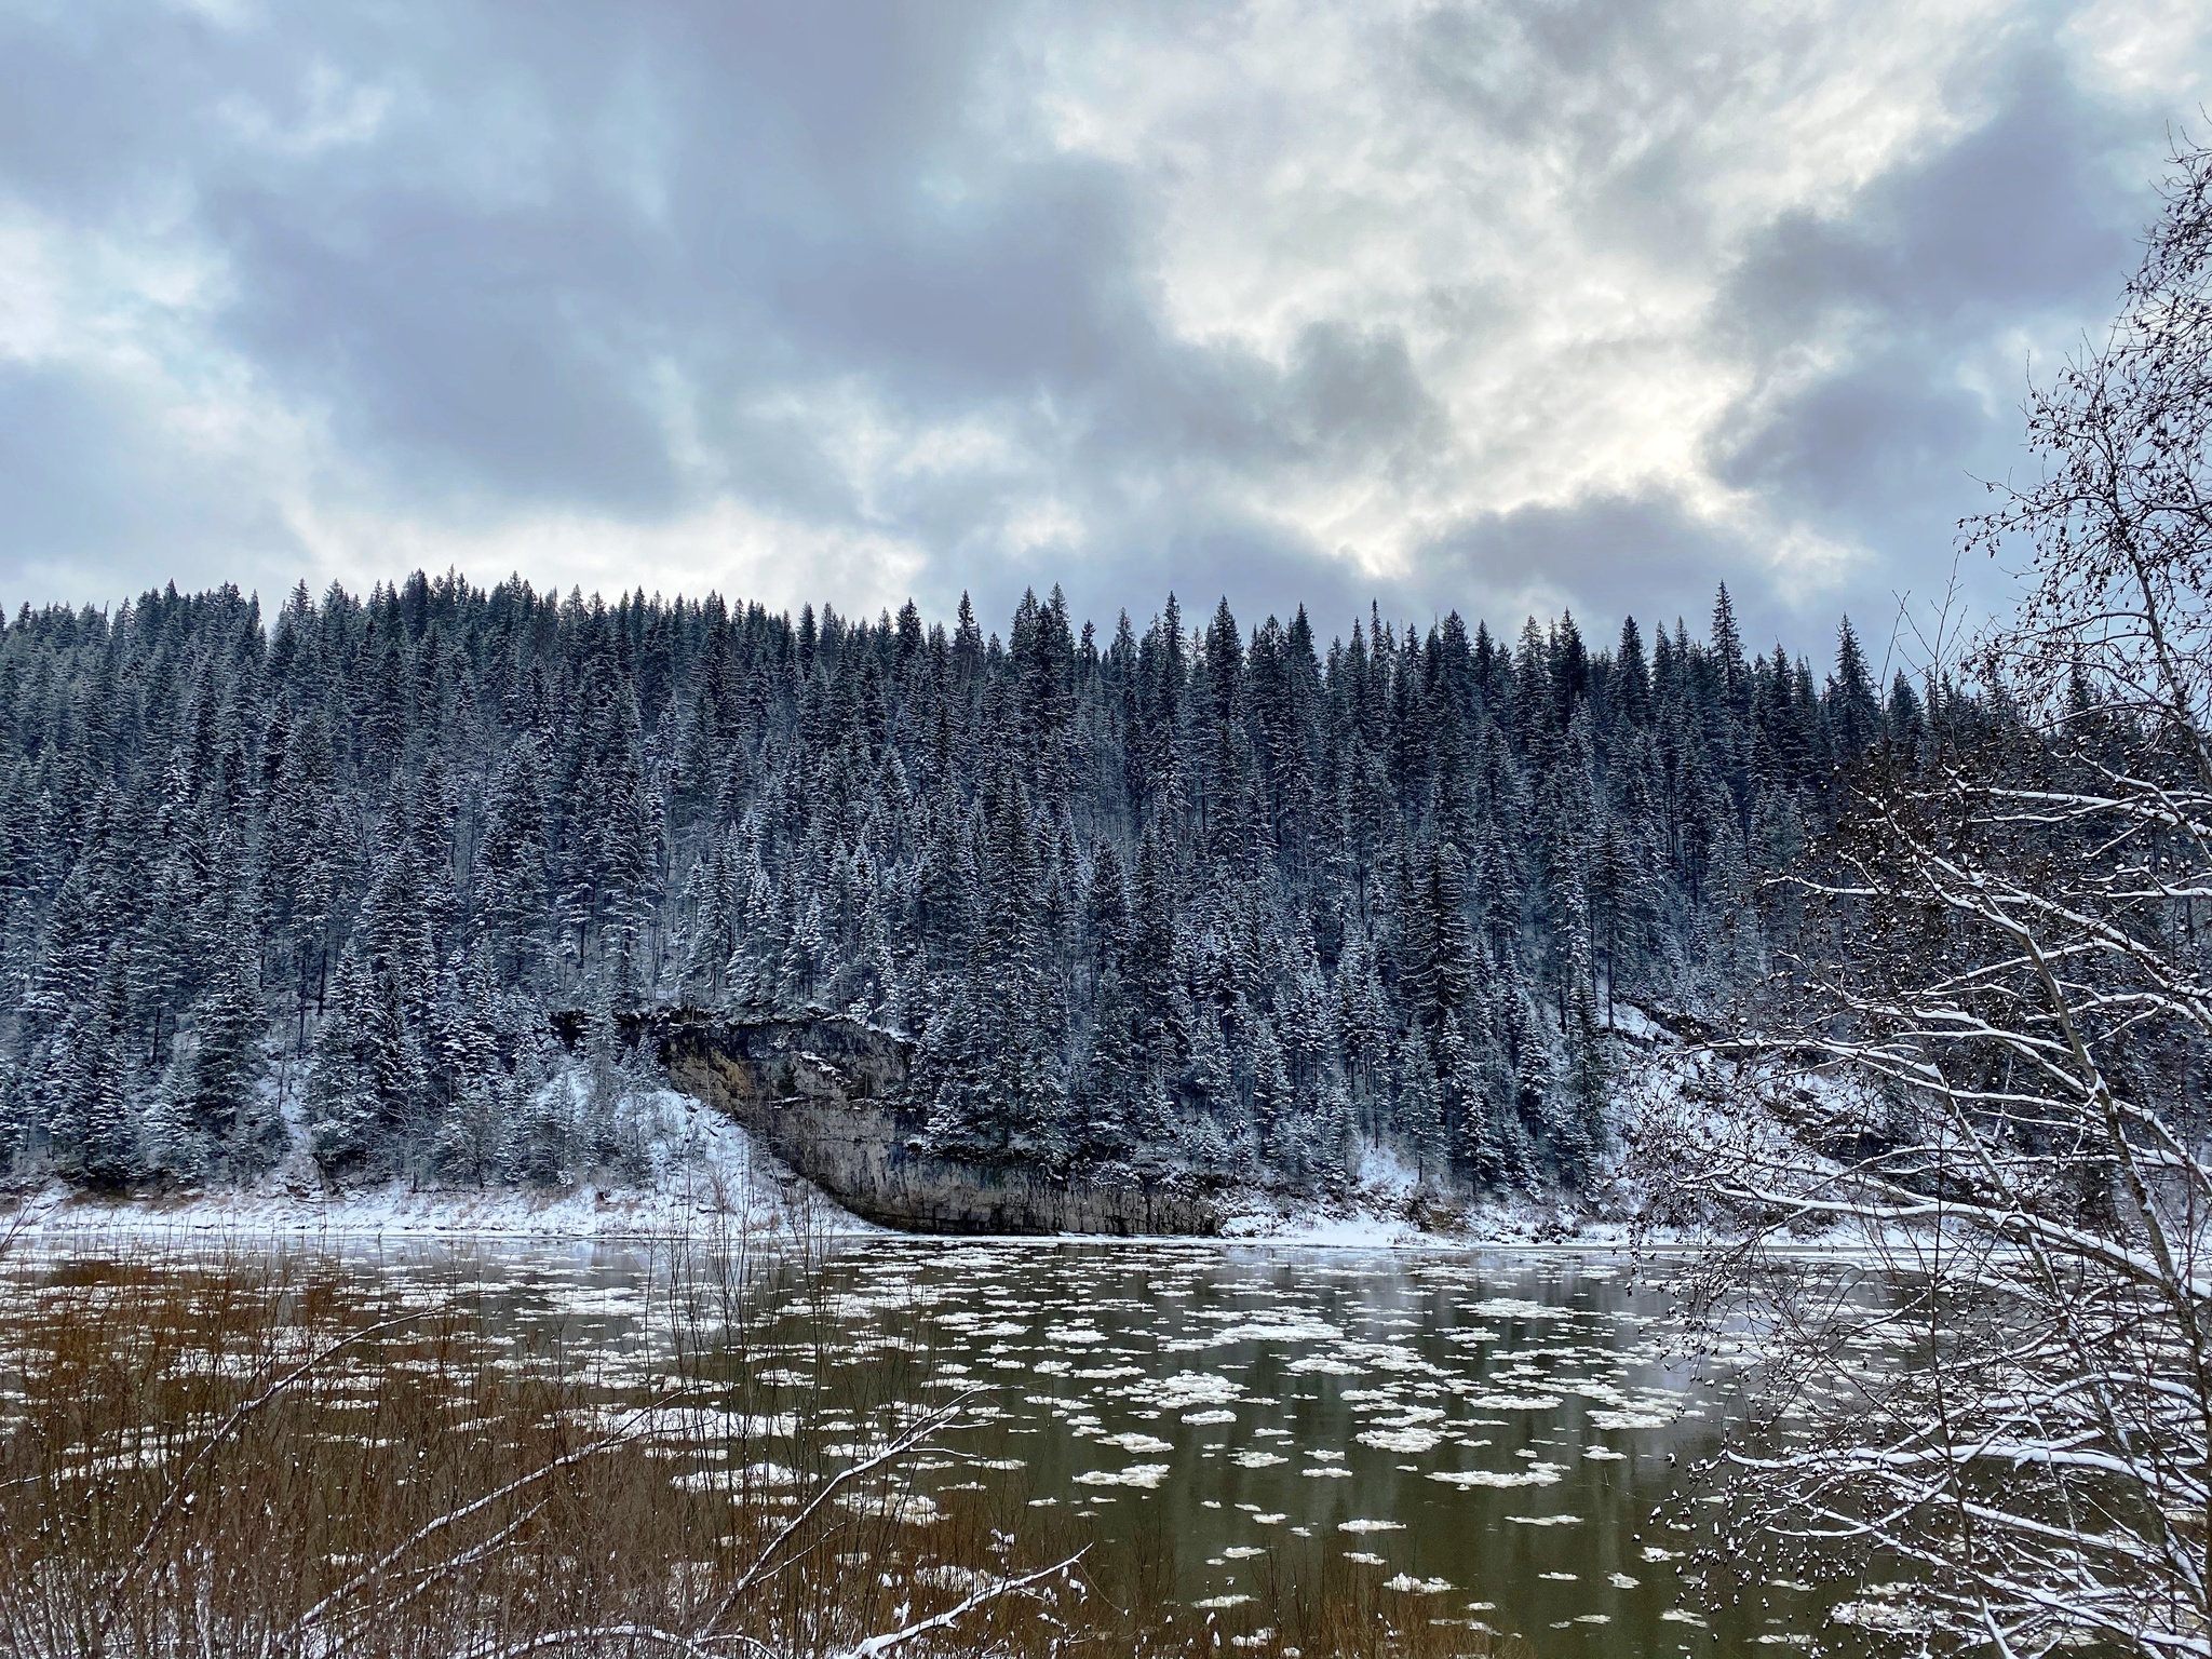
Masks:
[[[648,1035],[648,1033],[639,1033]],[[714,1106],[854,1214],[907,1232],[1214,1232],[1203,1194],[1055,1181],[922,1150],[911,1044],[838,1018],[664,1015],[668,1082]]]

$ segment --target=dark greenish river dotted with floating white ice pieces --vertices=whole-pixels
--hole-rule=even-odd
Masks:
[[[489,1296],[611,1400],[661,1365],[672,1283],[714,1287],[668,1245],[338,1250]],[[807,1411],[825,1378],[960,1400],[967,1427],[911,1473],[916,1524],[931,1493],[995,1482],[1099,1551],[1150,1551],[1157,1595],[1186,1608],[1225,1613],[1270,1562],[1325,1559],[1376,1575],[1405,1619],[1593,1659],[1809,1646],[1849,1593],[1754,1573],[1708,1595],[1717,1511],[1690,1469],[1730,1398],[1670,1360],[1663,1265],[874,1237],[807,1261],[754,1261],[748,1409],[852,1438],[849,1416]],[[717,1471],[677,1455],[670,1478]]]

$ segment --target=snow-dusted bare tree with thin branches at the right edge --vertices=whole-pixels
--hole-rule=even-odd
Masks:
[[[2028,597],[1792,876],[1801,956],[1697,1066],[1730,1099],[1670,1199],[1747,1223],[1701,1294],[1790,1396],[1736,1491],[1893,1566],[1865,1624],[2208,1655],[2212,150],[2026,414],[2039,478],[1964,535]],[[1871,1274],[1776,1250],[1832,1223]]]

